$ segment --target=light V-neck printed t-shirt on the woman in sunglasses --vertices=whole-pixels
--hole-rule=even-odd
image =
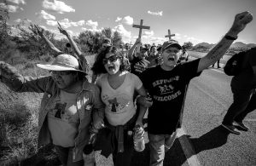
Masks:
[[[136,113],[133,94],[141,89],[142,81],[131,72],[125,72],[125,80],[119,88],[113,89],[108,83],[108,74],[100,77],[96,84],[102,89],[102,101],[105,103],[105,115],[113,126],[124,125]]]

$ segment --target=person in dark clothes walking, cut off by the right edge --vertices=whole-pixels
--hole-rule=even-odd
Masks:
[[[222,126],[235,135],[240,131],[248,131],[243,123],[249,112],[256,109],[256,48],[249,49],[241,64],[241,72],[232,77],[230,86],[233,93],[233,103],[224,116]]]

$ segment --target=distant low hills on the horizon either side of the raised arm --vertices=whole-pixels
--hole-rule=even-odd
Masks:
[[[212,49],[212,47],[214,46],[215,44],[212,44],[212,43],[198,43],[194,46],[194,49],[201,49],[201,48],[206,48],[206,49]],[[256,43],[242,43],[242,42],[236,42],[236,43],[233,43],[230,48],[242,48],[242,49],[250,49],[250,48],[253,48],[253,47],[256,47]]]

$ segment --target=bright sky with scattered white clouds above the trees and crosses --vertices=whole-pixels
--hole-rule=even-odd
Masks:
[[[0,2],[2,2],[1,0]],[[125,43],[134,42],[138,29],[132,24],[143,20],[143,43],[162,43],[168,29],[179,43],[217,43],[230,29],[237,13],[250,11],[254,20],[237,39],[256,43],[256,0],[7,0],[9,24],[20,20],[38,24],[56,33],[59,21],[72,35],[84,30],[119,31]]]

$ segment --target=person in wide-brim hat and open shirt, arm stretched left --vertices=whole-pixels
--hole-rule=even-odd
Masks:
[[[103,123],[100,89],[88,83],[79,61],[70,54],[56,56],[51,65],[37,66],[48,70],[50,76],[23,77],[1,61],[1,81],[15,92],[44,93],[38,113],[38,146],[52,143],[63,165],[83,166],[90,125],[100,129]]]

